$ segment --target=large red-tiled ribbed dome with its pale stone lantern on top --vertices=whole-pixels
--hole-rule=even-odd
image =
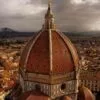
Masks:
[[[67,36],[55,29],[49,4],[42,30],[24,48],[20,69],[29,73],[60,74],[72,72],[78,64],[74,45]]]

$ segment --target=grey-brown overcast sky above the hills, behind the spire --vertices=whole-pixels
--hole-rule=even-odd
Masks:
[[[61,31],[100,30],[100,0],[53,0]],[[47,0],[0,0],[0,28],[37,31],[44,22]]]

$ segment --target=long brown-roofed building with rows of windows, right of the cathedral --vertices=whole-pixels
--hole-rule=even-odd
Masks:
[[[81,83],[94,93],[96,100],[100,100],[100,70],[81,71],[80,79]]]

